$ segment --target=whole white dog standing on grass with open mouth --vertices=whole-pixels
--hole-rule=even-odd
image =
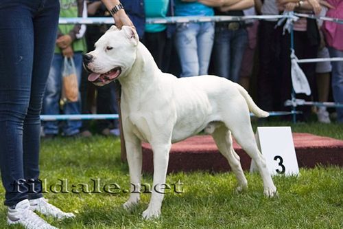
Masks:
[[[165,177],[171,143],[189,138],[202,130],[210,133],[226,157],[238,180],[237,190],[247,187],[247,180],[233,149],[231,133],[255,160],[263,179],[264,194],[276,195],[276,187],[265,159],[257,149],[249,111],[258,117],[268,112],[255,105],[248,92],[237,83],[217,76],[176,78],[158,69],[154,58],[139,42],[134,29],[114,25],[84,55],[88,80],[106,85],[121,83],[121,114],[132,190],[141,182],[141,142],[149,142],[154,152],[154,182],[145,219],[161,214]],[[123,205],[130,208],[139,202],[139,193],[131,193]]]

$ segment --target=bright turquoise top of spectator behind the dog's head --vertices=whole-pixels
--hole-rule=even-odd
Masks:
[[[145,17],[166,17],[169,0],[145,0]],[[162,32],[165,24],[145,24],[145,32]]]

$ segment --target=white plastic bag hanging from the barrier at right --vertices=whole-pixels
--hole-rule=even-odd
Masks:
[[[307,96],[311,95],[311,88],[309,87],[309,81],[303,72],[303,70],[298,65],[298,58],[294,54],[294,50],[292,50],[291,54],[291,76],[292,76],[292,85],[294,92],[298,93],[305,93]]]

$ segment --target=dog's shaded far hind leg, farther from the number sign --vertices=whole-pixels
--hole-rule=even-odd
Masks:
[[[228,160],[228,164],[230,164],[230,167],[235,173],[238,181],[237,191],[241,191],[247,188],[248,182],[246,180],[246,176],[243,173],[243,170],[241,168],[241,162],[239,155],[235,152],[233,149],[233,139],[231,137],[231,132],[225,127],[224,124],[217,125],[215,130],[212,133],[212,137],[215,140],[215,144],[217,144],[217,147],[226,157]]]

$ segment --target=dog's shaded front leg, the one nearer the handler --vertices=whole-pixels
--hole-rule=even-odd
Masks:
[[[139,203],[141,188],[141,171],[142,171],[142,148],[141,140],[136,136],[125,135],[126,154],[130,172],[130,197],[123,207],[129,209]]]

